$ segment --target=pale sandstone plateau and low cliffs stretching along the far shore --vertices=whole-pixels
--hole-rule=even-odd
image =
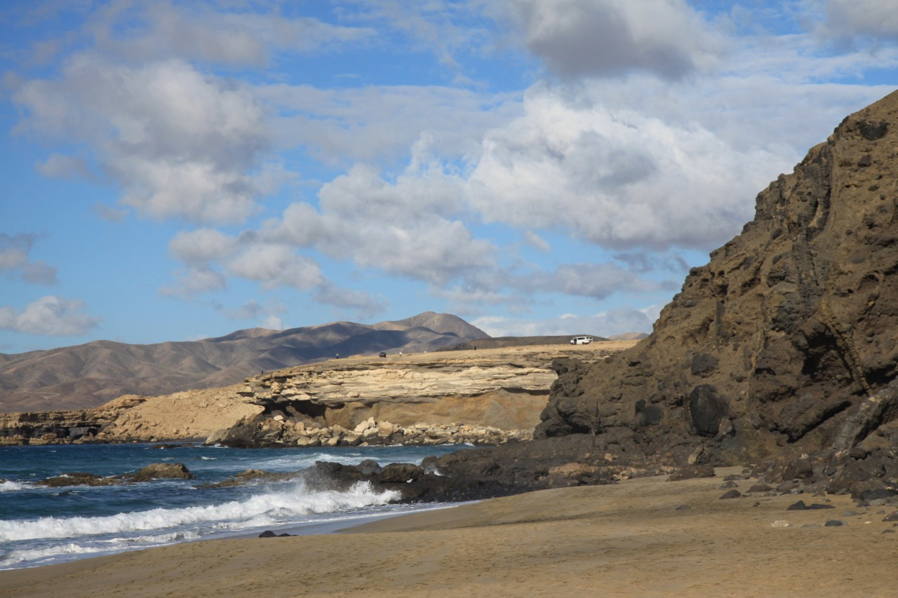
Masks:
[[[589,363],[636,342],[330,359],[95,409],[0,414],[0,443],[497,444],[532,435],[557,378],[554,358]]]

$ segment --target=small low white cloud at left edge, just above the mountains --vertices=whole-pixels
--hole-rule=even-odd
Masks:
[[[85,313],[86,309],[83,301],[46,295],[21,312],[10,306],[0,307],[0,329],[50,337],[78,336],[100,322],[100,318]]]

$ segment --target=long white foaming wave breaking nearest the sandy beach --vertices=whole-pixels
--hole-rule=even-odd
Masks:
[[[165,530],[179,525],[224,525],[243,529],[265,525],[279,517],[336,513],[365,506],[384,505],[400,495],[376,493],[367,483],[347,492],[310,492],[302,483],[221,505],[152,509],[103,517],[40,517],[0,521],[0,541],[78,538],[99,534]]]

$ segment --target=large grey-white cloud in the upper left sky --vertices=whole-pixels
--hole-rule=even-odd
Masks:
[[[20,129],[89,146],[121,203],[144,215],[228,223],[254,210],[269,133],[264,108],[239,84],[177,59],[127,66],[85,52],[13,99],[26,115]],[[75,163],[56,155],[43,168]]]

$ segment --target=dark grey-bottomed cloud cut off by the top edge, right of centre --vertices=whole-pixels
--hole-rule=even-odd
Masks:
[[[524,46],[567,78],[645,70],[679,78],[718,41],[683,0],[511,0]]]

